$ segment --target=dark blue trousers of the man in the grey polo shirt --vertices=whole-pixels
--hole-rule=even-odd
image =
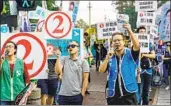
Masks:
[[[59,105],[82,105],[83,96],[81,94],[75,96],[59,95]]]

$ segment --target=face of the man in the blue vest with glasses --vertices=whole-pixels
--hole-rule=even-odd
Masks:
[[[115,35],[112,39],[112,45],[114,48],[118,48],[117,50],[122,50],[124,48],[125,42],[122,35]]]

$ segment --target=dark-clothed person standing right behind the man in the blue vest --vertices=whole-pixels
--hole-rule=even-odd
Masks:
[[[141,26],[137,29],[138,33],[145,34],[146,28]],[[149,48],[149,50],[152,50]],[[150,51],[149,53],[141,53],[141,84],[140,84],[140,95],[142,98],[142,105],[148,105],[149,103],[149,91],[151,88],[151,81],[152,81],[152,66],[151,60],[155,59],[155,52],[154,50]]]

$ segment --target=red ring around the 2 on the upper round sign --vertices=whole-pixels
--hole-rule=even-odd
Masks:
[[[67,31],[65,34],[63,34],[62,36],[58,36],[58,37],[55,36],[55,35],[53,35],[53,34],[51,34],[51,33],[49,32],[48,26],[47,26],[48,20],[49,20],[53,15],[55,15],[55,14],[62,14],[62,15],[64,15],[64,16],[66,16],[66,18],[69,20],[69,29],[68,29],[68,31]],[[60,11],[54,12],[54,13],[50,14],[50,15],[47,17],[46,21],[45,21],[45,29],[46,29],[46,32],[47,32],[51,37],[53,37],[53,38],[63,38],[63,37],[65,37],[65,36],[67,36],[67,35],[69,34],[69,32],[71,31],[71,28],[72,28],[72,21],[71,21],[70,17],[69,17],[66,13],[64,13],[64,12],[60,12]]]

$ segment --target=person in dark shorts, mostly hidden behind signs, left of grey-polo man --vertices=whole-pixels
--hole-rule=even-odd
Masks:
[[[59,48],[56,49],[56,52],[58,52],[56,55],[61,55]],[[48,59],[48,79],[38,80],[37,85],[41,88],[41,105],[52,105],[55,100],[58,85],[58,76],[54,70],[55,63],[56,59]]]

